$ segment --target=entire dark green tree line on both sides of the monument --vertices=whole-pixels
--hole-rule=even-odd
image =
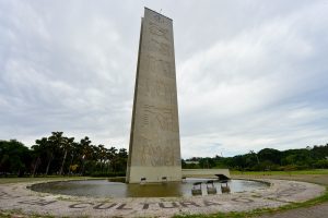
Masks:
[[[35,141],[31,148],[15,140],[0,141],[0,177],[7,175],[125,175],[128,153],[125,148],[94,145],[52,132]],[[229,168],[241,171],[303,170],[328,168],[328,144],[280,152],[265,148],[234,157],[192,157],[183,168]]]

